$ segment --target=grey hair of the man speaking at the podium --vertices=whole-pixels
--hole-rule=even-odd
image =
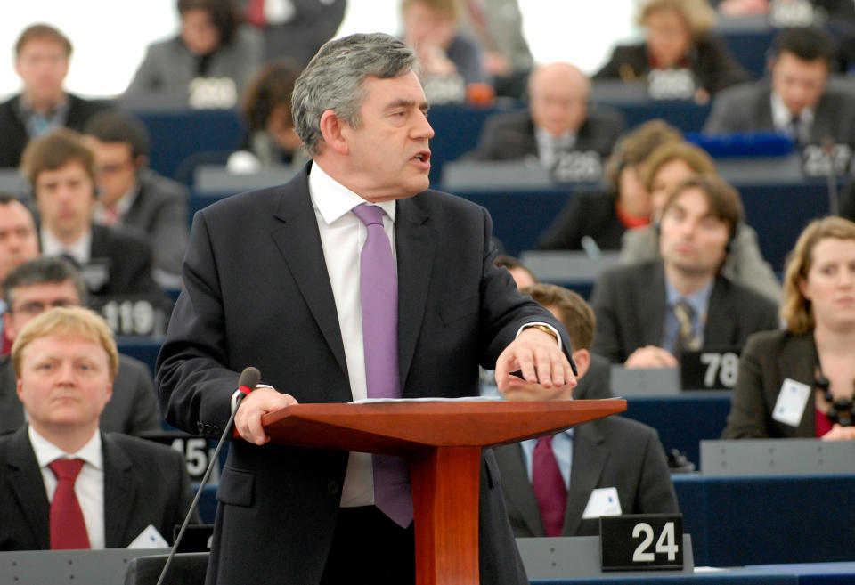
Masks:
[[[361,125],[365,77],[400,77],[415,70],[417,63],[409,45],[384,33],[350,35],[324,44],[297,78],[291,97],[295,130],[305,148],[321,153],[321,115],[326,110],[354,128]]]

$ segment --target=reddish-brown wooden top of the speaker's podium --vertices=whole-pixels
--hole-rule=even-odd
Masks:
[[[394,401],[294,404],[262,418],[274,443],[405,454],[436,447],[489,447],[556,433],[626,410],[622,399]]]

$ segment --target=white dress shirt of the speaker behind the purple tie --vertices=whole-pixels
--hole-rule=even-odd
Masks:
[[[359,195],[324,173],[315,163],[309,174],[309,194],[321,232],[323,259],[327,264],[332,296],[336,301],[338,328],[345,346],[347,376],[354,400],[368,396],[365,382],[365,353],[362,344],[362,304],[359,291],[359,254],[368,229],[351,209],[367,203]],[[395,201],[378,204],[384,211],[383,229],[395,256]],[[347,461],[341,506],[370,506],[374,503],[371,454],[351,452]]]

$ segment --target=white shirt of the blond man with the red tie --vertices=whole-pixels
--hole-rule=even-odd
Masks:
[[[76,453],[66,453],[59,447],[39,435],[33,426],[28,427],[29,443],[36,453],[38,467],[45,480],[47,500],[53,502],[53,492],[56,491],[56,475],[48,467],[56,459],[83,459],[84,464],[74,483],[74,493],[83,511],[86,532],[89,535],[90,548],[105,548],[104,535],[104,459],[101,451],[101,433],[96,429],[95,434]]]

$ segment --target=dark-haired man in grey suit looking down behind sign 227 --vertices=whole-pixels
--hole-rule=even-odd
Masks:
[[[736,85],[712,102],[704,132],[784,132],[794,142],[855,148],[855,90],[829,80],[835,58],[821,28],[788,28],[772,45],[770,79]]]

